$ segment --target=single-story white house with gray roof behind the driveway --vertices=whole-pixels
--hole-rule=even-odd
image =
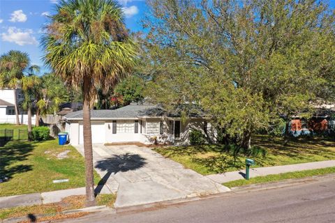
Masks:
[[[66,132],[70,144],[83,144],[82,111],[65,116]],[[191,116],[181,121],[180,116],[165,116],[163,110],[153,105],[128,105],[115,110],[91,110],[92,143],[159,143],[189,144],[191,130],[201,130],[214,141],[215,133],[210,123]]]

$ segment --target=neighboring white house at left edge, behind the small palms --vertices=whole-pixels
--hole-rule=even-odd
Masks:
[[[0,89],[0,123],[16,123],[15,118],[15,94],[14,89]],[[23,99],[21,89],[17,89],[17,103],[19,104]],[[27,112],[20,111],[19,118],[21,124],[28,123]],[[31,123],[35,123],[36,116],[31,116]]]

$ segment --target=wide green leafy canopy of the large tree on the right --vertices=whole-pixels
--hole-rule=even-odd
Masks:
[[[322,1],[148,1],[142,70],[148,98],[193,102],[246,145],[279,115],[334,101],[334,13]],[[278,132],[276,132],[278,134]]]

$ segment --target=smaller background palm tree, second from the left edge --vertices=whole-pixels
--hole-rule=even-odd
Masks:
[[[22,78],[22,90],[24,92],[24,100],[22,101],[23,109],[27,110],[28,114],[28,139],[31,140],[31,110],[36,102],[36,95],[40,91],[41,80],[34,74]]]

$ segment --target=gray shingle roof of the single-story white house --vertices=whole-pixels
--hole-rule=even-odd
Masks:
[[[140,116],[159,116],[161,113],[152,111],[160,110],[155,105],[128,105],[115,110],[91,110],[91,119],[137,118]],[[150,113],[148,113],[150,112]],[[82,111],[71,112],[65,116],[68,120],[81,120]]]

